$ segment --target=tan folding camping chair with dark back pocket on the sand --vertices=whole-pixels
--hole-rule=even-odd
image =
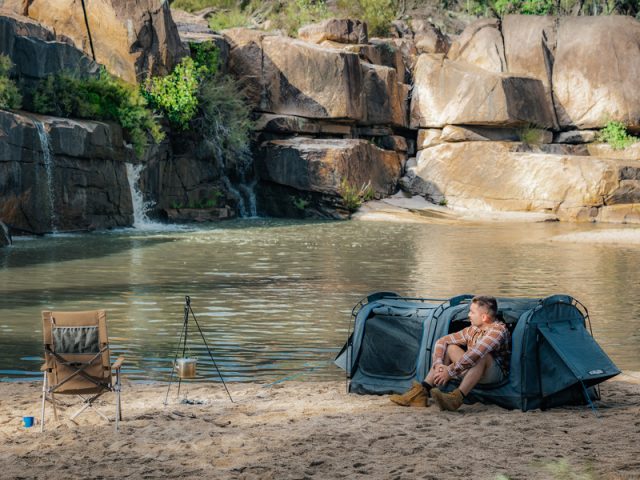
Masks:
[[[47,401],[53,405],[53,414],[58,420],[57,394],[77,395],[82,399],[82,407],[70,417],[71,420],[85,410],[92,409],[108,422],[109,418],[93,405],[107,392],[116,395],[115,423],[118,431],[118,422],[122,420],[120,368],[124,357],[110,364],[106,312],[44,311],[42,331],[45,363],[42,366],[44,383],[40,431],[44,431]]]

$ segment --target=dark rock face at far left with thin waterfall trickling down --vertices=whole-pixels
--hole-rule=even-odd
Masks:
[[[0,218],[36,233],[131,225],[120,127],[0,111]]]

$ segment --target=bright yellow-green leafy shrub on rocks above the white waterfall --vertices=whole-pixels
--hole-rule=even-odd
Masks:
[[[162,112],[171,125],[185,130],[198,110],[201,73],[190,57],[185,57],[165,77],[149,78],[142,94],[149,105]]]

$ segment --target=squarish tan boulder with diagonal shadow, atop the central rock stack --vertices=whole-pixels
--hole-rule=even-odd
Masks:
[[[363,119],[362,69],[355,53],[285,37],[262,39],[263,111],[308,118]],[[233,57],[232,50],[232,57]]]

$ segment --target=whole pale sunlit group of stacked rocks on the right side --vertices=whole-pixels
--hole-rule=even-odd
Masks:
[[[401,185],[452,207],[638,222],[640,157],[582,146],[608,121],[638,127],[638,68],[627,17],[478,21],[417,61],[420,151]]]

